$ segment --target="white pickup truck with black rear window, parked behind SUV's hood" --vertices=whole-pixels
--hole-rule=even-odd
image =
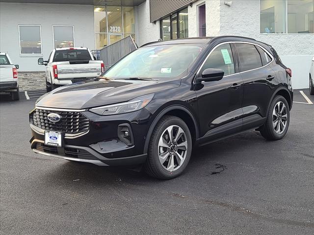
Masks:
[[[86,47],[55,48],[47,61],[39,58],[38,64],[46,66],[47,92],[60,85],[98,77],[105,70],[104,62],[96,60]]]

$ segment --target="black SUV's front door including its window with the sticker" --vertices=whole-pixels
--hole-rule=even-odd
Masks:
[[[222,44],[211,51],[197,76],[205,69],[220,69],[225,74],[219,81],[194,85],[201,144],[239,132],[243,124],[243,80],[237,72],[231,45]]]

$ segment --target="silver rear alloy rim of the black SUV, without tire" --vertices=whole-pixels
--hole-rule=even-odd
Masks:
[[[279,101],[276,103],[273,110],[272,121],[275,132],[282,134],[288,123],[288,112],[284,102]]]

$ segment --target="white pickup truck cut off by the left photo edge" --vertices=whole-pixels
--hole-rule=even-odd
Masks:
[[[10,93],[12,100],[20,99],[18,69],[7,53],[0,53],[0,92]]]

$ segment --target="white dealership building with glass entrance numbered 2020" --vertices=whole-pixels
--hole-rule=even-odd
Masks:
[[[272,45],[292,69],[293,87],[308,88],[314,0],[0,0],[0,51],[19,64],[22,79],[44,79],[37,60],[54,47],[219,35]]]

